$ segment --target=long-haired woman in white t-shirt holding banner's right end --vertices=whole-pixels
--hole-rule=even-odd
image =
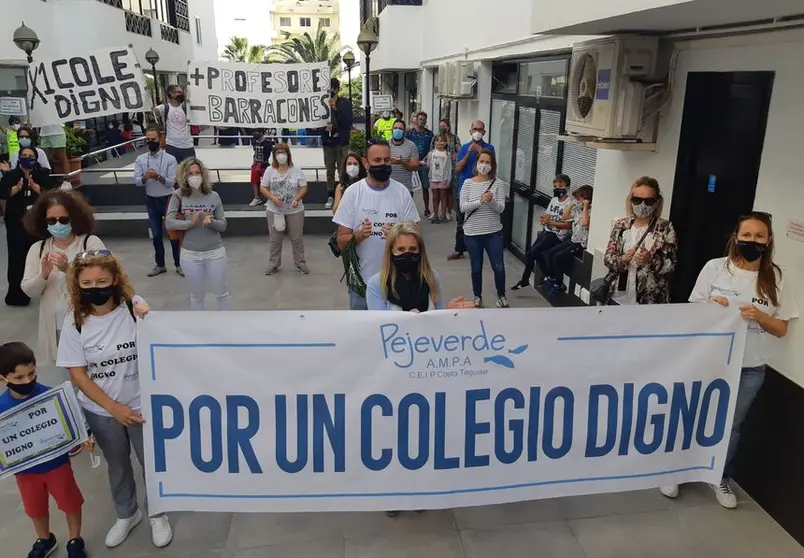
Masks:
[[[740,387],[734,408],[725,470],[719,486],[712,486],[724,508],[737,507],[731,489],[731,461],[740,443],[740,426],[765,380],[768,336],[787,335],[790,320],[799,317],[790,285],[773,262],[773,228],[767,213],[740,217],[729,239],[727,256],[710,260],[698,275],[690,302],[713,302],[738,308],[748,322]],[[662,494],[678,496],[678,485],[664,486]]]

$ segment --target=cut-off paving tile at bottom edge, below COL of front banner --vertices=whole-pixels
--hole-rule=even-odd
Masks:
[[[346,539],[346,558],[464,558],[455,531]]]

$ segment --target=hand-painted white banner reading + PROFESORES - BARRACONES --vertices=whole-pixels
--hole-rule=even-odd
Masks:
[[[191,62],[187,75],[193,124],[320,128],[330,119],[328,62]]]

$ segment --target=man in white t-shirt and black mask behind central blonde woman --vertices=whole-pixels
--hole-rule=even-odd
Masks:
[[[368,176],[344,192],[332,221],[338,225],[338,246],[345,250],[354,239],[360,276],[367,281],[380,271],[385,233],[398,221],[419,222],[419,212],[408,189],[391,178],[391,147],[376,140],[368,146],[363,165]],[[365,293],[349,289],[349,309],[367,310]]]

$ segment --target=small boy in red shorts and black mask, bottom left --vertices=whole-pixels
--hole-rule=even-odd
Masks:
[[[7,388],[0,393],[0,413],[50,389],[36,381],[36,357],[25,343],[19,342],[0,346],[0,385]],[[91,443],[87,446],[91,449]],[[68,558],[86,558],[84,540],[81,538],[84,497],[75,482],[67,454],[17,473],[16,478],[25,514],[33,521],[38,537],[28,558],[45,558],[58,546],[56,537],[50,532],[49,496],[53,496],[59,509],[67,516],[70,533]]]

